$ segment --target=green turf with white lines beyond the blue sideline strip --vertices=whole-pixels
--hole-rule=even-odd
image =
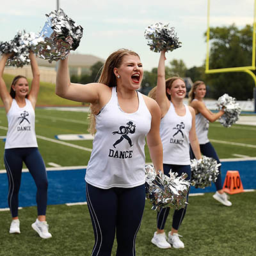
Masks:
[[[36,108],[36,134],[43,136],[38,138],[38,147],[44,158],[45,165],[56,163],[61,166],[84,166],[87,165],[90,157],[90,151],[61,145],[55,142],[54,136],[58,134],[84,134],[88,133],[89,120],[87,113],[74,111],[57,111]],[[0,108],[0,136],[6,135],[7,119],[3,108]],[[230,128],[223,127],[218,122],[210,124],[209,138],[219,141],[227,141],[227,144],[212,143],[218,152],[220,158],[234,158],[233,154],[242,154],[245,156],[256,157],[256,150],[253,147],[241,147],[228,144],[231,142],[256,145],[256,127],[249,125],[233,125]],[[55,142],[46,139],[55,140]],[[83,148],[92,148],[92,140],[65,141],[72,145],[78,145]],[[3,155],[4,142],[0,141],[0,152]],[[148,150],[146,152],[146,161],[150,162]],[[3,169],[3,157],[0,157],[0,170]]]

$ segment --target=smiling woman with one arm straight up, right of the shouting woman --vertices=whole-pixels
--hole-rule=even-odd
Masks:
[[[186,96],[186,84],[183,79],[180,77],[165,79],[165,60],[165,52],[162,51],[157,69],[157,86],[148,95],[156,99],[161,109],[160,136],[163,143],[164,174],[169,175],[170,170],[179,175],[187,173],[189,180],[191,177],[189,141],[196,158],[201,158],[195,132],[195,111],[183,102]],[[167,207],[157,213],[157,231],[151,241],[159,248],[171,246],[184,248],[178,230],[186,214],[186,207],[174,211],[172,229],[166,241],[164,225],[169,211],[170,208]]]

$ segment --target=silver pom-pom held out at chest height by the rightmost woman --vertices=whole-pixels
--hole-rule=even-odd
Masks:
[[[220,117],[220,123],[223,126],[230,127],[232,124],[236,124],[241,114],[241,107],[236,102],[236,98],[230,97],[225,93],[218,99],[217,106],[219,110],[223,109],[225,111]]]

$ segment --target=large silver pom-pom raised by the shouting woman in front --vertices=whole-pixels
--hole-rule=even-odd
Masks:
[[[83,28],[77,26],[62,9],[46,14],[46,17],[47,21],[40,33],[44,41],[39,44],[39,57],[49,63],[64,60],[70,50],[74,51],[79,46]]]

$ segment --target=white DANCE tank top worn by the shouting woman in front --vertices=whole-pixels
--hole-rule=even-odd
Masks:
[[[150,131],[151,114],[138,92],[139,107],[125,113],[118,105],[116,87],[109,102],[96,116],[93,150],[85,180],[108,189],[132,188],[145,183],[145,136]]]

